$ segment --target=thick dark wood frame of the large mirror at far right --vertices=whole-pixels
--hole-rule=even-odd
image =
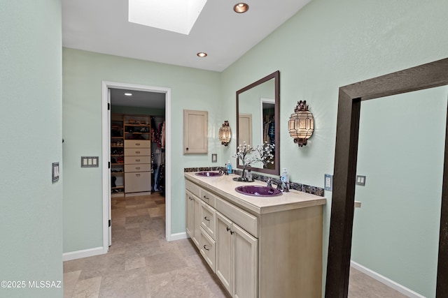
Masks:
[[[448,58],[339,88],[325,297],[347,297],[362,100],[448,84]],[[448,116],[448,111],[447,111]],[[448,117],[447,117],[448,128]],[[436,297],[448,297],[448,129],[445,135]]]

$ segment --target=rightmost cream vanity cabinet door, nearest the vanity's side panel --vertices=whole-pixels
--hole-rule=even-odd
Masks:
[[[235,298],[257,297],[258,292],[258,239],[235,223],[232,226],[235,238],[233,295]]]

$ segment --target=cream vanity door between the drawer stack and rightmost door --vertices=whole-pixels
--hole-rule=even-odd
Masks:
[[[232,295],[232,221],[216,212],[216,276]]]

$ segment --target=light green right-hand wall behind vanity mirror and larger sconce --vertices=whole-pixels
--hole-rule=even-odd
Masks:
[[[235,91],[280,70],[281,167],[291,181],[323,187],[334,163],[339,87],[446,58],[447,11],[448,2],[435,0],[313,0],[221,73],[223,117],[235,126],[228,105]],[[315,118],[314,135],[300,149],[287,128],[297,100],[307,100]],[[231,156],[233,147],[224,153]],[[324,282],[331,192],[325,198]]]

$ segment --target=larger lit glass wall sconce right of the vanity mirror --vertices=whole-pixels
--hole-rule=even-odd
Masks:
[[[288,121],[289,135],[299,147],[306,146],[314,132],[314,117],[308,110],[307,100],[297,101],[294,112]]]

